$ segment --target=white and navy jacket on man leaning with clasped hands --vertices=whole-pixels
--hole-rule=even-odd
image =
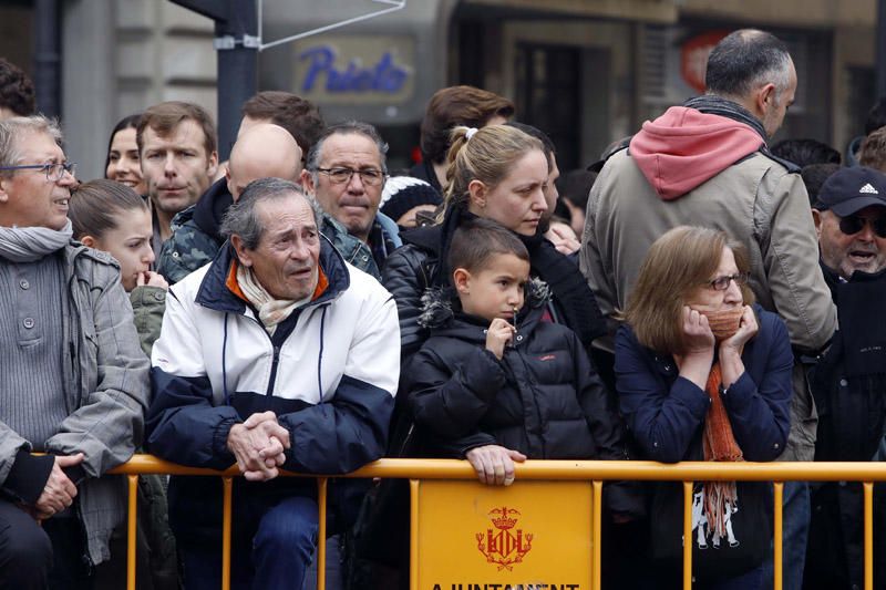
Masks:
[[[150,452],[227,468],[230,427],[271,410],[289,429],[285,469],[341,474],[381,457],[400,374],[391,294],[322,240],[313,300],[271,338],[231,290],[236,263],[226,244],[169,289],[152,354]]]

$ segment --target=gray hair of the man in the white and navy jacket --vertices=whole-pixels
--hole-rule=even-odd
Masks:
[[[265,234],[265,226],[256,213],[258,204],[291,198],[293,195],[303,198],[311,207],[313,221],[317,224],[317,230],[319,231],[319,207],[313,203],[313,199],[305,195],[299,185],[280,178],[259,178],[246,185],[240,198],[228,207],[225,217],[222,219],[222,236],[225,239],[230,239],[236,234],[243,240],[244,248],[255,250]]]

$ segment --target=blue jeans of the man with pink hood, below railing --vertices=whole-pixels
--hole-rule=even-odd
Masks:
[[[782,588],[800,590],[806,565],[806,541],[810,537],[810,485],[806,482],[785,482],[782,504]],[[772,588],[772,557],[763,563],[763,588]]]

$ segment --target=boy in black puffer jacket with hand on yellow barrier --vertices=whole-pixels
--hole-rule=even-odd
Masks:
[[[509,485],[514,462],[627,459],[621,421],[578,337],[545,318],[547,287],[511,231],[477,219],[459,228],[449,268],[457,297],[429,291],[431,338],[406,375],[429,455],[463,457],[481,482]],[[619,520],[640,516],[633,487],[607,486]]]

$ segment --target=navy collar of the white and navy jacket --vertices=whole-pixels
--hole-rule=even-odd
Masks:
[[[212,266],[200,282],[199,290],[197,291],[197,304],[227,313],[241,314],[246,311],[246,302],[233,293],[226,286],[230,266],[234,263],[236,256],[234,247],[229,241],[222,245],[222,248],[218,250]],[[329,281],[329,286],[320,297],[308,303],[305,309],[333,301],[341,293],[347,291],[351,284],[351,276],[344,263],[344,259],[322,235],[320,238],[319,263],[320,269]]]

